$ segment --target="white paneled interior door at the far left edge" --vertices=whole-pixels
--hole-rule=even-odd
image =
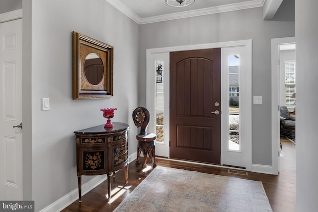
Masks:
[[[22,200],[22,19],[0,23],[0,200]]]

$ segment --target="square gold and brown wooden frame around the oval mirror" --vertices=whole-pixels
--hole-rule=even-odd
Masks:
[[[73,31],[73,99],[113,97],[114,47]],[[84,72],[85,58],[95,53],[103,64],[103,74],[97,84],[91,84]]]

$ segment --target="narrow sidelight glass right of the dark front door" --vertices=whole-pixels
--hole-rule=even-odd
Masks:
[[[239,55],[229,56],[229,150],[239,151]]]

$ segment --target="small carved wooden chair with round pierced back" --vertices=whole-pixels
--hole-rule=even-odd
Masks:
[[[157,138],[156,134],[147,133],[147,126],[149,123],[150,114],[149,111],[144,107],[138,107],[133,112],[133,120],[137,128],[140,128],[140,133],[136,136],[138,140],[138,148],[137,148],[137,160],[136,165],[139,165],[140,153],[143,151],[144,154],[144,164],[143,167],[147,167],[147,154],[152,159],[153,168],[155,168],[156,160],[155,160],[155,140]]]

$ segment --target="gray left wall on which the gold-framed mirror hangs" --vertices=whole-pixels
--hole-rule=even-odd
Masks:
[[[32,191],[25,197],[34,200],[39,211],[77,189],[73,132],[105,124],[100,108],[118,109],[112,121],[131,126],[129,153],[136,152],[131,114],[139,106],[139,26],[105,0],[23,0],[24,21],[24,163],[32,169],[24,172],[24,182],[32,186],[24,186]],[[72,99],[73,30],[114,46],[113,98]],[[41,110],[43,97],[50,98],[49,111]],[[83,176],[82,183],[91,178]]]

